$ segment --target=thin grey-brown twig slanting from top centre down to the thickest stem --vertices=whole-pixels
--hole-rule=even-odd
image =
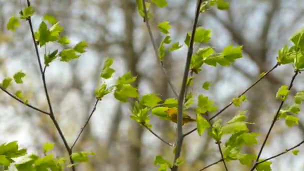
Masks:
[[[151,39],[151,42],[152,42],[152,46],[153,46],[153,49],[154,49],[154,53],[155,53],[155,56],[156,56],[156,59],[158,60],[158,50],[157,50],[157,47],[156,47],[156,42],[154,40],[154,37],[153,37],[153,34],[152,34],[152,31],[151,31],[151,27],[150,27],[150,24],[149,24],[149,21],[148,21],[148,15],[147,15],[147,11],[146,11],[146,7],[145,7],[145,0],[142,0],[142,4],[143,4],[143,12],[144,12],[144,21],[145,21],[145,24],[146,24],[146,27],[148,29],[148,32],[149,32],[149,36],[150,36],[150,39]],[[168,73],[164,67],[164,64],[162,61],[160,61],[160,66],[161,66],[161,69],[162,69],[162,72],[169,84],[169,86],[171,87],[174,95],[176,97],[178,97],[178,94],[172,84],[172,82],[170,81],[170,77],[168,76]]]

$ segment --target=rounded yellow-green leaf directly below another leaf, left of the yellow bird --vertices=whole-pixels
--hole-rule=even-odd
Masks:
[[[138,97],[137,89],[130,84],[121,84],[115,89],[114,97],[122,102],[126,102],[127,97]]]

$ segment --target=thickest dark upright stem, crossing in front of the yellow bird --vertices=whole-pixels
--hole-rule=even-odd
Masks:
[[[198,20],[198,16],[199,16],[199,8],[200,8],[201,1],[202,0],[197,0],[195,17],[194,17],[194,22],[193,22],[193,26],[192,26],[192,33],[191,33],[191,38],[190,38],[189,48],[188,48],[188,52],[187,52],[186,63],[185,63],[184,72],[183,72],[182,84],[181,84],[181,89],[180,89],[179,96],[178,96],[177,130],[176,130],[177,137],[176,137],[176,148],[175,148],[175,155],[174,155],[174,160],[173,160],[173,167],[171,168],[172,171],[177,170],[178,166],[175,165],[175,161],[180,156],[181,145],[182,145],[182,140],[183,140],[183,134],[182,134],[183,99],[184,99],[184,92],[185,92],[185,89],[186,89],[186,82],[187,82],[187,78],[188,78],[191,57],[192,57],[192,53],[193,53],[194,34],[195,34],[196,24],[197,24],[197,20]]]

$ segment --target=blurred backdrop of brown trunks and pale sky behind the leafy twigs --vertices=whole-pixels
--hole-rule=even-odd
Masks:
[[[154,8],[150,21],[157,42],[157,24],[169,20],[172,25],[173,41],[183,42],[185,33],[190,31],[193,21],[195,0],[167,0],[166,8]],[[208,10],[198,21],[199,25],[212,29],[210,44],[216,50],[228,44],[243,45],[244,58],[237,60],[232,67],[203,66],[191,87],[193,94],[205,93],[216,101],[218,107],[226,105],[263,71],[276,63],[277,50],[290,35],[304,24],[304,1],[302,0],[230,0],[228,10]],[[88,117],[95,98],[93,89],[98,84],[98,75],[106,56],[114,57],[113,67],[117,68],[114,78],[125,71],[137,75],[136,84],[140,94],[156,92],[161,97],[173,97],[166,79],[156,61],[151,42],[142,18],[136,11],[135,0],[32,0],[36,15],[34,28],[44,13],[55,16],[64,27],[71,43],[85,40],[88,51],[70,63],[55,62],[46,73],[47,84],[54,113],[59,120],[67,140],[71,143],[84,120]],[[10,15],[26,5],[24,0],[0,0],[0,77],[12,75],[22,68],[27,73],[22,90],[28,100],[47,110],[47,103],[38,71],[34,47],[27,24],[12,34],[5,23]],[[40,15],[39,15],[40,14]],[[166,53],[165,67],[175,87],[180,88],[186,46],[172,53]],[[119,68],[119,69],[118,69]],[[280,66],[266,76],[248,94],[242,109],[248,110],[250,131],[263,132],[258,136],[259,143],[246,151],[257,152],[268,129],[278,102],[275,92],[281,84],[287,84],[292,74],[291,66]],[[112,83],[114,83],[114,78]],[[204,81],[210,81],[208,92],[201,88]],[[303,78],[298,77],[294,89],[303,88]],[[295,90],[294,90],[295,91]],[[293,91],[293,93],[294,93]],[[0,142],[18,140],[30,151],[39,149],[45,141],[55,143],[56,153],[65,154],[53,124],[46,116],[14,101],[0,92],[0,129],[5,132]],[[105,96],[97,105],[97,110],[75,150],[93,150],[96,156],[91,162],[80,165],[81,170],[155,170],[154,156],[161,154],[172,157],[171,149],[164,146],[146,129],[129,119],[131,103],[119,103],[112,96]],[[227,120],[239,108],[231,107],[220,117]],[[190,114],[194,114],[190,113]],[[192,115],[193,116],[193,115]],[[301,116],[299,116],[301,117]],[[175,124],[152,117],[151,123],[156,132],[170,142],[175,139]],[[195,124],[185,126],[190,130]],[[302,139],[304,125],[288,128],[278,121],[267,141],[262,156],[271,156]],[[303,156],[299,152],[299,158]],[[193,133],[184,141],[182,151],[185,164],[180,170],[198,170],[208,163],[218,160],[216,144],[207,136]],[[229,162],[235,170],[247,170],[238,161]],[[206,170],[222,170],[222,164]],[[273,170],[302,170],[300,160],[290,154],[273,160]]]

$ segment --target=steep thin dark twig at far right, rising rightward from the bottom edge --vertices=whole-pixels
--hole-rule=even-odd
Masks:
[[[292,76],[292,79],[291,79],[290,84],[289,84],[289,86],[288,86],[288,90],[291,89],[291,87],[292,87],[292,85],[293,85],[293,81],[294,81],[294,79],[295,79],[295,77],[296,77],[297,74],[298,74],[298,71],[295,70],[295,71],[294,71],[294,75]],[[266,137],[265,137],[265,139],[264,139],[264,141],[263,141],[263,143],[262,143],[262,146],[261,146],[261,148],[260,148],[260,150],[259,150],[259,152],[258,152],[258,155],[257,155],[257,157],[256,157],[255,164],[253,165],[253,167],[251,168],[251,170],[253,170],[253,169],[257,166],[257,164],[258,164],[258,159],[259,159],[259,157],[260,157],[260,155],[261,155],[261,153],[262,153],[262,150],[263,150],[263,148],[264,148],[264,146],[265,146],[265,144],[266,144],[266,141],[267,141],[267,139],[268,139],[268,136],[269,136],[269,134],[270,134],[270,131],[272,130],[272,127],[273,127],[274,123],[275,123],[276,120],[277,120],[279,110],[281,109],[281,107],[282,107],[284,101],[285,101],[285,100],[282,100],[282,102],[280,103],[280,105],[279,105],[279,107],[278,107],[278,109],[277,109],[277,111],[276,111],[276,113],[275,113],[275,116],[274,116],[274,118],[273,118],[273,120],[272,120],[272,123],[271,123],[269,129],[268,129],[268,132],[267,132],[267,134],[266,134]]]

